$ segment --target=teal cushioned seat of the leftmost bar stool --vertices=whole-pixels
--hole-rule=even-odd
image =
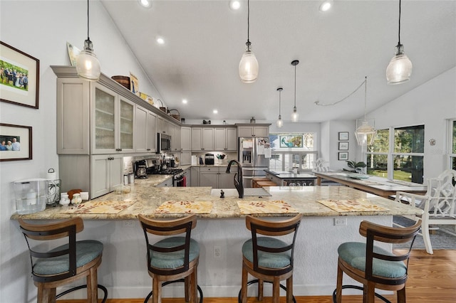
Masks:
[[[50,252],[65,250],[68,248],[68,243],[54,248]],[[103,243],[97,240],[81,240],[76,241],[76,267],[81,267],[95,260],[96,257],[103,252]],[[62,272],[68,272],[70,262],[68,255],[58,257],[48,257],[46,259],[38,259],[33,266],[33,272],[36,275],[57,275]]]

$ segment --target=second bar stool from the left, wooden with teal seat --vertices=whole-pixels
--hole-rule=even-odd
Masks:
[[[185,302],[196,302],[197,291],[202,303],[202,290],[197,285],[197,265],[199,262],[199,244],[190,238],[190,233],[197,225],[197,216],[187,216],[175,220],[152,220],[138,215],[144,230],[147,245],[147,270],[152,277],[152,302],[162,302],[162,286],[174,282],[185,283]],[[185,236],[176,236],[185,233]],[[162,240],[150,244],[149,235],[158,235]],[[172,237],[167,237],[173,235]]]

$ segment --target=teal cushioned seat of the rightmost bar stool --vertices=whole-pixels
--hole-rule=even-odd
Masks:
[[[338,247],[339,257],[349,265],[358,270],[366,271],[366,243],[348,242],[343,243]],[[394,255],[388,250],[374,246],[373,251],[382,255]],[[386,261],[373,259],[373,275],[379,277],[398,278],[403,277],[407,273],[402,261]]]

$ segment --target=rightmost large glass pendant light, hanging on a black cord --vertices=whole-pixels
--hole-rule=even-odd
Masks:
[[[395,56],[390,60],[386,68],[386,80],[388,84],[400,84],[410,80],[412,75],[412,62],[404,53],[404,46],[400,44],[400,0],[399,0],[399,42],[395,47]]]

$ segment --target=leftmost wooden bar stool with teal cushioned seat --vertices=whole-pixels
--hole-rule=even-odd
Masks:
[[[30,224],[19,219],[21,232],[24,233],[31,260],[31,274],[38,287],[38,303],[56,302],[56,299],[77,289],[87,288],[87,302],[98,302],[98,288],[104,292],[103,302],[108,291],[97,284],[97,268],[101,264],[103,243],[96,240],[76,241],[76,233],[84,229],[81,218],[72,218],[58,223]],[[43,252],[40,245],[31,245],[31,240],[51,240],[68,238],[68,243]],[[56,287],[86,277],[87,285],[73,287],[56,294]]]

